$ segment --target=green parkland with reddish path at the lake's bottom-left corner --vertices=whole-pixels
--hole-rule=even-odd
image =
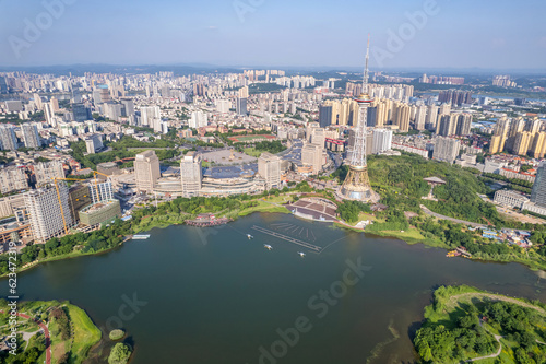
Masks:
[[[0,337],[4,338],[11,333],[5,300],[0,300]],[[54,364],[83,363],[102,338],[87,314],[69,302],[22,302],[17,313],[16,355],[0,351],[0,363],[44,363],[48,350]],[[50,338],[49,348],[46,334]]]

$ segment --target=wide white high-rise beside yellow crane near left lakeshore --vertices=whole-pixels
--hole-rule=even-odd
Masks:
[[[54,186],[35,189],[25,193],[35,243],[45,243],[54,236],[64,234],[66,227],[73,224],[69,206],[69,188],[58,183]]]

